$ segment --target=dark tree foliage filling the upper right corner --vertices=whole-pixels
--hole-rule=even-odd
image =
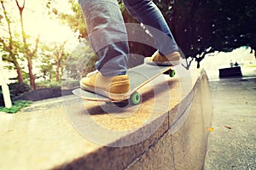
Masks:
[[[200,61],[213,51],[255,49],[256,2],[250,0],[158,0],[186,58]],[[164,5],[163,5],[164,4]]]

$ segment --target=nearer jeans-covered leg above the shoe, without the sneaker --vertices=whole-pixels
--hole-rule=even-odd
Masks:
[[[116,0],[79,0],[89,39],[105,77],[123,75],[129,52],[125,23]]]

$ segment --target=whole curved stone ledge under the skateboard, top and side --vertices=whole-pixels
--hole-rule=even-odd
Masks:
[[[162,78],[143,88],[137,106],[64,97],[57,109],[1,115],[0,169],[202,169],[212,122],[207,75],[182,72],[168,88]]]

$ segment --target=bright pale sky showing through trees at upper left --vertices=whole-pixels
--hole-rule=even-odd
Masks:
[[[18,2],[20,3],[20,6],[23,5],[23,0],[18,0]],[[79,44],[78,38],[68,26],[61,25],[60,20],[54,19],[53,17],[50,18],[49,14],[47,14],[46,0],[26,0],[25,2],[23,19],[26,33],[30,35],[32,39],[36,39],[38,35],[40,35],[40,41],[46,43],[61,43],[67,41],[66,47],[70,51],[73,51],[73,49]],[[14,20],[12,22],[13,31],[20,33],[20,14],[15,0],[7,0],[4,4],[11,19]],[[68,0],[56,1],[54,5],[59,12],[72,12],[68,6]],[[0,8],[0,14],[3,15],[2,6]],[[7,30],[7,27],[1,28],[1,30],[2,29]],[[0,33],[4,33],[4,31],[0,31]],[[1,63],[2,65],[9,65],[3,62]],[[34,62],[34,69],[36,68],[36,65],[37,64]],[[26,63],[24,63],[24,66],[26,67]],[[0,75],[1,82],[3,82],[3,79],[8,80],[9,77],[16,77],[15,71],[9,71],[7,69],[3,70],[1,68],[0,71],[0,74],[2,75]]]

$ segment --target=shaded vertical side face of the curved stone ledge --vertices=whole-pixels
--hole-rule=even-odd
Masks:
[[[55,168],[202,169],[207,150],[207,127],[211,127],[212,122],[212,102],[205,71],[199,75],[189,94],[170,111],[155,118],[148,127],[115,142],[136,139],[145,133],[143,129],[162,122],[148,139],[127,147],[104,146]]]

